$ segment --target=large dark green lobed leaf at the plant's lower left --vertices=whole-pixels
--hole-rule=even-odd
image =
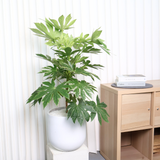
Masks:
[[[67,87],[65,83],[61,83],[56,87],[53,80],[52,82],[43,82],[41,87],[32,93],[27,103],[33,102],[32,104],[35,105],[36,102],[41,99],[43,107],[45,108],[51,99],[53,99],[54,103],[57,105],[62,96],[69,99],[69,94],[66,90]]]

